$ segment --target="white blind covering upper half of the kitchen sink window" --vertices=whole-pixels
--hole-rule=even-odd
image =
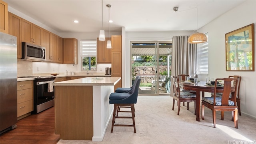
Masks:
[[[93,57],[97,55],[97,40],[80,40],[81,56]]]

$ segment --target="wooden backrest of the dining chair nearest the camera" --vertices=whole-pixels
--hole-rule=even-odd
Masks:
[[[223,87],[223,90],[222,90],[221,104],[222,104],[222,106],[228,106],[229,94],[230,94],[231,88],[232,88],[232,81],[233,81],[233,83],[237,83],[238,80],[237,80],[237,78],[216,78],[215,86],[214,86],[214,95],[213,95],[213,97],[214,97],[213,105],[214,106],[216,105],[216,90],[217,90],[216,83],[217,83],[218,80],[223,80],[224,81],[224,87]],[[235,87],[234,94],[236,94],[237,86],[234,86],[234,87]],[[236,96],[232,96],[231,100],[234,102],[234,104],[236,104]]]

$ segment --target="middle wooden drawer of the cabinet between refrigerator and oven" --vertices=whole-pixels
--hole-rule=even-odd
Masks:
[[[33,88],[28,88],[25,90],[18,90],[17,91],[17,104],[21,102],[26,102],[28,100],[33,100],[33,95],[34,95],[34,89]]]

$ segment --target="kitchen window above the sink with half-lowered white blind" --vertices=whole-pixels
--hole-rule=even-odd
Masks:
[[[81,70],[96,71],[97,40],[80,40]]]

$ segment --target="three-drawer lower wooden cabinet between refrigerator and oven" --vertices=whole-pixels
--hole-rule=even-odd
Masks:
[[[33,80],[17,82],[17,117],[30,114],[34,104]]]

